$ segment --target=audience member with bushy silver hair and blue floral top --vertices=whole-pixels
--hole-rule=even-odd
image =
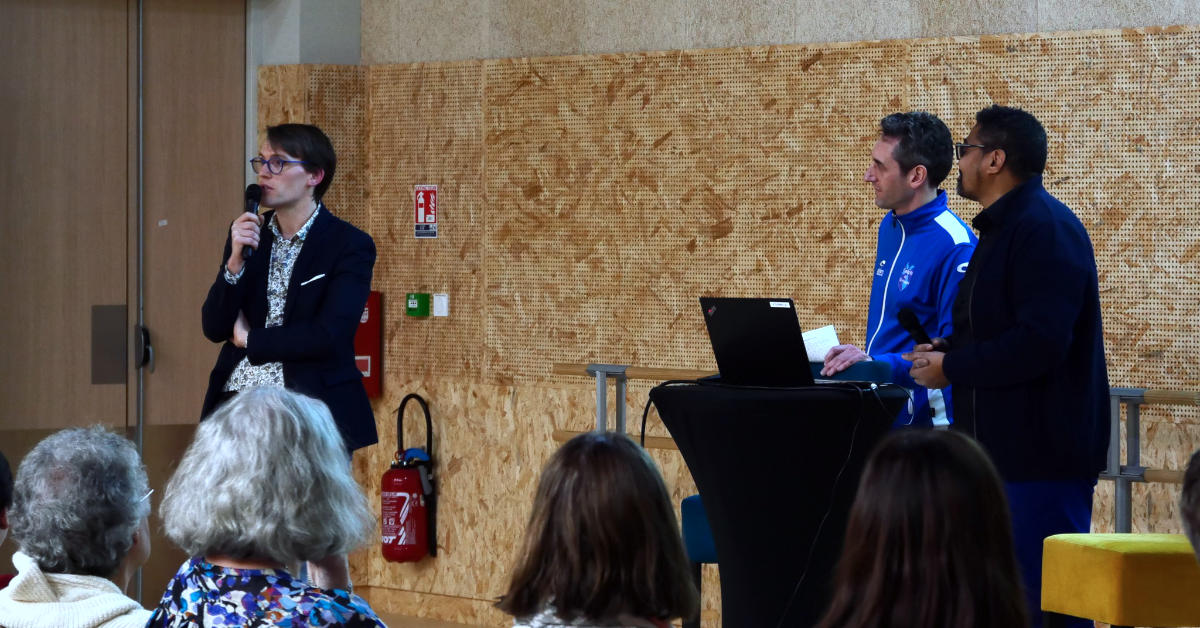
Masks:
[[[329,408],[276,387],[202,421],[167,484],[167,536],[192,558],[148,627],[382,627],[346,554],[374,531]],[[293,575],[307,561],[312,581]]]

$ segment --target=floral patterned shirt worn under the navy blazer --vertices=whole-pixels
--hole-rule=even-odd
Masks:
[[[288,303],[288,282],[292,281],[292,269],[296,264],[296,258],[300,257],[300,249],[304,246],[305,238],[308,237],[308,229],[317,220],[318,213],[320,213],[319,204],[313,210],[312,216],[308,216],[308,220],[290,240],[283,239],[283,234],[280,233],[280,223],[275,220],[275,215],[271,215],[271,222],[268,226],[271,228],[271,233],[275,234],[275,244],[271,245],[271,268],[266,275],[265,327],[280,327],[283,324],[283,305]],[[242,273],[245,270],[242,268]],[[241,279],[241,273],[234,275],[226,270],[226,281],[229,283],[238,283],[239,279]],[[283,364],[269,361],[256,366],[250,364],[250,358],[242,358],[233,372],[229,373],[229,379],[226,382],[224,389],[226,391],[235,391],[253,385],[282,387]]]

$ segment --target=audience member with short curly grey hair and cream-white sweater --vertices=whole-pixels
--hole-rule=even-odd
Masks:
[[[150,556],[150,490],[138,451],[101,426],[64,430],[17,469],[8,521],[17,578],[0,591],[7,628],[140,628],[122,591]]]

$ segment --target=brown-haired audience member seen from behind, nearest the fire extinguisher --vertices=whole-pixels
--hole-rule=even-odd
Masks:
[[[517,628],[665,628],[700,600],[662,477],[619,433],[583,433],[546,463],[509,590]]]

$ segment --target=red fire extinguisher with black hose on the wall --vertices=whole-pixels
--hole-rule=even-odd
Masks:
[[[415,399],[425,411],[425,449],[404,449],[404,406]],[[383,557],[416,562],[438,555],[437,486],[433,483],[433,421],[430,405],[413,393],[396,411],[396,457],[383,474]]]

